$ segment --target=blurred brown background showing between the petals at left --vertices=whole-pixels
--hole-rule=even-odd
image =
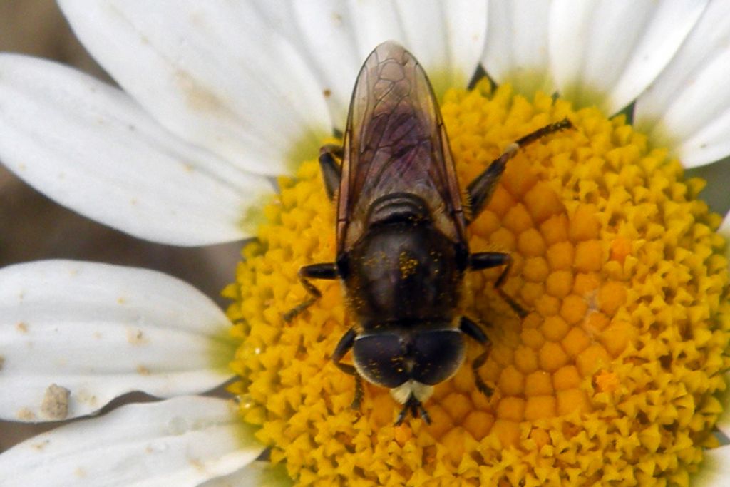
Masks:
[[[0,51],[55,59],[111,83],[53,0],[0,0]],[[219,294],[233,279],[239,248],[173,248],[128,237],[55,204],[0,165],[0,267],[44,258],[142,266],[187,280],[225,306]],[[45,429],[0,421],[0,451]]]

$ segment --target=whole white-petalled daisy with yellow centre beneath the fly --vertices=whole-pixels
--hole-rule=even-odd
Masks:
[[[142,239],[255,239],[225,313],[145,269],[1,269],[1,417],[80,419],[1,453],[0,484],[722,485],[729,225],[684,168],[730,155],[730,4],[61,7],[120,88],[1,54],[0,161]],[[430,425],[393,426],[375,386],[350,409],[353,377],[329,360],[347,329],[337,283],[282,319],[306,297],[299,267],[334,258],[315,158],[387,39],[429,73],[462,187],[524,134],[575,126],[520,151],[469,226],[472,251],[511,253],[504,291],[528,312],[496,274],[468,275],[461,311],[493,342],[477,373],[495,393],[461,367]],[[493,83],[467,88],[480,65]],[[200,395],[234,376],[235,402]],[[129,391],[164,399],[98,415]]]

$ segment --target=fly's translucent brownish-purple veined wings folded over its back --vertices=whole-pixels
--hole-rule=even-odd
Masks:
[[[464,212],[448,139],[426,73],[395,42],[375,48],[350,101],[337,204],[337,251],[366,229],[375,199],[414,193],[429,204],[434,225],[465,242]]]

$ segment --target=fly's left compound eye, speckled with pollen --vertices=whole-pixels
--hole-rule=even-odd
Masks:
[[[353,345],[358,372],[369,382],[388,388],[398,387],[409,378],[404,354],[405,345],[394,334],[358,337]]]

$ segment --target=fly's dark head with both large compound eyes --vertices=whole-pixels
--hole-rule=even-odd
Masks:
[[[451,323],[371,323],[368,328],[355,340],[353,361],[358,373],[377,386],[434,386],[464,363],[464,336]]]

